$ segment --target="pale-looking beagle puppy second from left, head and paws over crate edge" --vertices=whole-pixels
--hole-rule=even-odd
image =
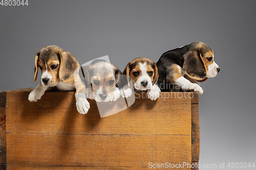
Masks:
[[[122,72],[113,64],[102,60],[94,60],[90,65],[82,67],[86,78],[86,96],[96,102],[116,101],[120,96],[117,87]]]

